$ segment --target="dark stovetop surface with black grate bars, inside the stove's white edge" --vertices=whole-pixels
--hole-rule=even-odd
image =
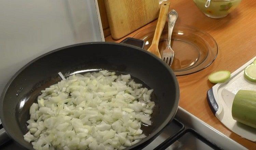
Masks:
[[[176,118],[170,122],[160,136],[143,150],[177,150],[177,149],[218,149],[217,144],[201,136],[195,130],[186,128],[185,125]]]

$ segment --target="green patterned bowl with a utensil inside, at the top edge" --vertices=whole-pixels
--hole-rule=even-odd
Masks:
[[[233,11],[242,0],[211,0],[209,7],[205,7],[207,0],[193,1],[206,16],[211,18],[223,18]]]

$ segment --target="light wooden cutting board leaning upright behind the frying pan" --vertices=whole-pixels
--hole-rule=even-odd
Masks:
[[[158,17],[159,0],[105,0],[111,36],[120,39]]]

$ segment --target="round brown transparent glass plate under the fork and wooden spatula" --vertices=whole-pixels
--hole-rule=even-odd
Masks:
[[[133,38],[145,41],[144,49],[152,43],[156,26],[148,27]],[[167,46],[168,28],[165,26],[159,42],[159,50]],[[209,66],[217,57],[218,46],[213,37],[199,29],[186,25],[175,25],[172,33],[171,47],[174,60],[171,65],[175,75],[187,75]]]

